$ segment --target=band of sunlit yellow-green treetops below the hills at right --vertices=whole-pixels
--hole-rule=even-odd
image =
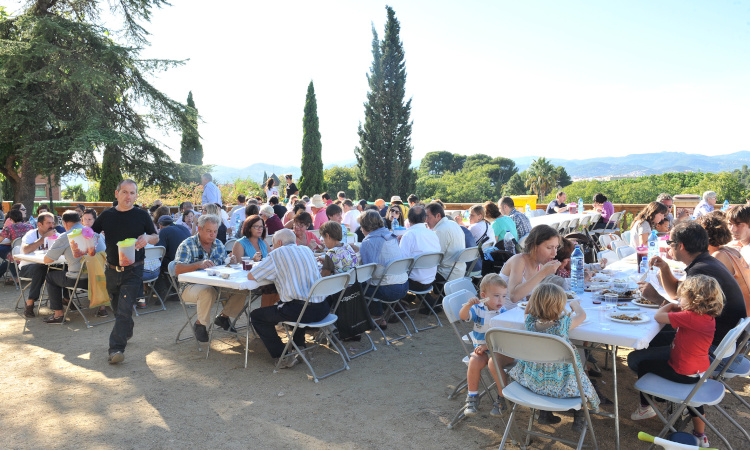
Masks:
[[[704,191],[715,191],[719,203],[725,199],[730,203],[744,203],[748,189],[734,173],[665,173],[638,178],[624,178],[612,181],[576,181],[565,188],[568,198],[582,198],[591,202],[598,192],[607,196],[613,203],[649,203],[666,192],[676,194],[701,195]],[[545,201],[552,201],[551,193]]]

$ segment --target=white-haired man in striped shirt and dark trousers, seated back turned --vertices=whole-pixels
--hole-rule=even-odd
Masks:
[[[276,283],[281,301],[273,306],[258,308],[250,313],[250,321],[272,358],[280,358],[284,351],[276,325],[281,322],[296,322],[310,288],[320,279],[320,271],[315,262],[312,250],[307,246],[296,245],[292,230],[283,229],[273,235],[274,250],[268,257],[256,264],[248,280],[268,280]],[[318,322],[329,312],[325,297],[313,297],[302,315],[302,322]],[[297,330],[293,336],[299,347],[305,346],[304,330]],[[297,363],[297,358],[283,361],[281,368],[286,369]]]

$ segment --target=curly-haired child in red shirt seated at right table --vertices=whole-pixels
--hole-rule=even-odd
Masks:
[[[647,373],[655,373],[668,380],[695,384],[696,376],[705,372],[711,365],[708,357],[709,347],[716,330],[715,317],[724,308],[724,295],[716,279],[706,275],[688,277],[682,282],[678,291],[680,304],[667,303],[659,308],[654,320],[671,325],[677,329],[669,358],[663,354],[655,355],[638,365],[638,378]],[[695,408],[703,415],[703,406]],[[656,412],[641,394],[640,407],[630,416],[633,420],[654,417]],[[706,424],[693,412],[693,435],[701,446],[708,447],[705,435]]]

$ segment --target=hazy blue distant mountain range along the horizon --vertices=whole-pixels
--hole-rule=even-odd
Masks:
[[[512,158],[518,170],[526,170],[537,159],[537,156]],[[722,172],[742,168],[743,164],[750,165],[750,151],[741,151],[728,155],[696,155],[682,152],[641,153],[627,156],[601,156],[589,159],[560,159],[550,158],[555,166],[563,166],[571,177],[603,177],[603,176],[642,176],[658,175],[668,172]],[[420,160],[414,160],[412,167],[419,167]],[[349,167],[356,164],[350,159],[326,164]],[[296,166],[277,166],[273,164],[256,163],[244,168],[214,166],[212,174],[219,182],[228,182],[236,178],[250,177],[261,181],[263,173],[275,173],[281,178],[282,174],[291,173],[294,179],[299,179],[300,168]]]

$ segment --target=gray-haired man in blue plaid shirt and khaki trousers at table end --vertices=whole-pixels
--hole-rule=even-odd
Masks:
[[[191,236],[177,247],[175,254],[175,274],[195,272],[224,264],[226,249],[216,239],[221,225],[221,218],[215,214],[204,214],[198,219],[198,233]],[[193,330],[199,342],[208,342],[206,324],[211,320],[211,307],[219,298],[219,292],[213,286],[202,284],[183,284],[182,300],[195,303],[198,309]],[[235,292],[229,297],[224,309],[214,319],[214,324],[229,330],[231,319],[234,319],[245,307],[245,293]]]

